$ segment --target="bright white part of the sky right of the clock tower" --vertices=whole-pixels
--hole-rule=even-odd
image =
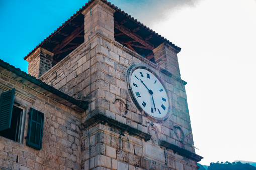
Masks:
[[[256,1],[198,1],[166,16],[148,27],[182,48],[199,163],[256,161]]]

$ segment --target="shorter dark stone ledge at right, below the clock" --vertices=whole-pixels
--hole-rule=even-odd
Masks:
[[[187,157],[187,158],[189,158],[189,159],[192,159],[192,160],[195,160],[195,161],[200,161],[202,158],[204,158],[204,157],[202,157],[202,156],[199,156],[198,154],[196,154],[196,153],[193,153],[193,152],[191,152],[191,151],[188,151],[188,150],[186,150],[186,149],[184,149],[184,148],[181,148],[181,147],[179,147],[179,146],[176,146],[176,145],[174,145],[174,144],[172,144],[172,143],[169,143],[169,142],[166,142],[166,141],[164,141],[164,140],[160,140],[159,141],[159,145],[160,146],[163,146],[163,147],[166,147],[167,149],[172,149],[173,151],[174,151],[174,153],[177,153],[177,154],[179,154],[179,155],[181,155],[181,156],[185,156],[185,157]]]

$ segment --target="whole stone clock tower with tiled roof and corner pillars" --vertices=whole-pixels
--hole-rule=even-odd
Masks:
[[[194,149],[180,51],[92,0],[25,59],[29,74],[90,103],[76,129],[80,169],[195,170],[203,157]]]

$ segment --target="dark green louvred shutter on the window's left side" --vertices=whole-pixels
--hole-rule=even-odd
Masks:
[[[15,89],[1,94],[0,99],[0,131],[11,126]]]

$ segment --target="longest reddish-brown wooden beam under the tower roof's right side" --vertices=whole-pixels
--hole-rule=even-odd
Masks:
[[[114,21],[114,24],[115,24],[115,28],[116,29],[118,29],[119,31],[123,32],[124,34],[126,34],[127,36],[129,36],[133,40],[137,41],[141,45],[147,47],[147,49],[150,49],[150,50],[154,49],[154,45],[152,45],[151,43],[147,42],[146,40],[143,40],[142,37],[140,37],[140,36],[136,35],[135,33],[131,32],[129,29],[127,29],[124,26],[118,24],[118,22],[116,22],[116,21]]]

